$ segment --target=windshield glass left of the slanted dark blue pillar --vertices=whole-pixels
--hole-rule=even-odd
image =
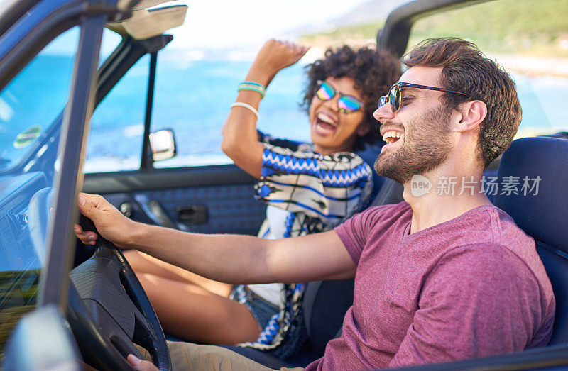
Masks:
[[[57,118],[69,95],[79,31],[53,40],[0,92],[0,358],[6,338],[38,295]]]

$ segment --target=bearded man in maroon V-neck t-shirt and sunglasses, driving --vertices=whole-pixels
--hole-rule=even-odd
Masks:
[[[400,367],[547,345],[555,299],[535,242],[482,187],[484,168],[508,148],[520,123],[515,83],[459,39],[426,40],[402,62],[409,69],[374,113],[388,143],[375,170],[403,183],[400,204],[286,240],[142,225],[88,194],[79,196],[80,211],[116,245],[217,281],[354,277],[342,336],[307,370]],[[78,226],[75,233],[94,244],[94,233]],[[211,345],[170,350],[174,368],[266,369]],[[133,356],[129,362],[153,367]]]

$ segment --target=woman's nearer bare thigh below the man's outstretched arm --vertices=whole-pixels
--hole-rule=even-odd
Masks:
[[[258,323],[238,301],[189,282],[148,273],[138,273],[138,279],[164,331],[173,336],[207,344],[236,344],[258,338]]]

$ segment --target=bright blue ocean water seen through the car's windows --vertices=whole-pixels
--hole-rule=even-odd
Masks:
[[[178,156],[156,167],[231,162],[220,150],[221,129],[251,62],[158,57],[152,130],[172,128]],[[85,172],[135,170],[140,165],[149,57],[143,57],[97,107]],[[15,145],[34,126],[45,131],[67,100],[71,57],[42,55],[0,93],[0,169],[29,148]],[[305,66],[281,71],[261,101],[258,128],[279,138],[309,140],[307,114],[299,107]],[[519,136],[568,129],[568,78],[513,74],[523,105]],[[17,147],[17,148],[16,148]]]

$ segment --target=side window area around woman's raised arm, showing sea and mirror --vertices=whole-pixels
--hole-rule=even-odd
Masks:
[[[158,55],[151,131],[172,128],[176,157],[154,167],[231,163],[221,150],[221,129],[236,89],[252,61],[199,57],[164,50]],[[277,138],[310,140],[307,113],[300,111],[304,65],[282,70],[268,87],[259,109],[258,128]]]

